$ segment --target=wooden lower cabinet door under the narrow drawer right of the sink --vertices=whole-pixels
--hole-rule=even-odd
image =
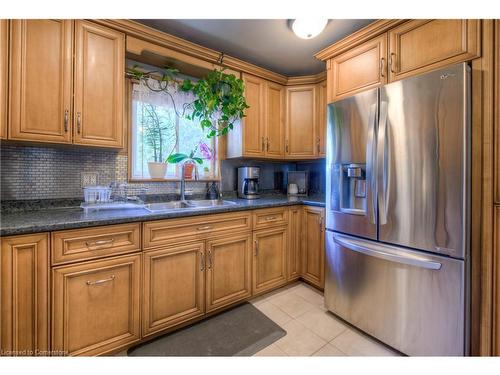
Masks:
[[[254,232],[253,294],[286,283],[287,237],[286,227]]]

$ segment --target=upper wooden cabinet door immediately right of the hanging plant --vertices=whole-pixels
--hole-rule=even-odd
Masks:
[[[245,99],[250,106],[245,112],[243,127],[243,156],[265,156],[265,81],[243,74]]]

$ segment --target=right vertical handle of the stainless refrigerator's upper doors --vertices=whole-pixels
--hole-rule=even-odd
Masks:
[[[389,151],[387,147],[387,102],[380,101],[380,120],[377,136],[377,195],[380,225],[387,224],[387,191]]]

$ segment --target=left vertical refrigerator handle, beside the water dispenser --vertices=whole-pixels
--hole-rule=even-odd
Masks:
[[[377,124],[377,104],[372,104],[370,107],[370,118],[368,120],[370,126],[368,133],[368,142],[366,148],[366,171],[370,177],[370,190],[371,190],[371,209],[369,210],[369,220],[371,223],[376,224],[375,207],[377,206],[377,148],[376,148],[376,124]]]

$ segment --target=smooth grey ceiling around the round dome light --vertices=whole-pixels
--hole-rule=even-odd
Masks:
[[[314,54],[373,22],[330,20],[313,39],[300,39],[284,19],[147,19],[144,25],[251,62],[286,76],[316,74],[325,64]]]

